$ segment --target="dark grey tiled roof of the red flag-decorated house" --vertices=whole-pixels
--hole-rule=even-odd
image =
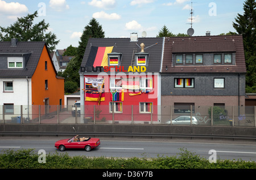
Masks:
[[[164,38],[150,37],[138,38],[137,42],[130,42],[130,38],[90,38],[85,49],[85,54],[84,58],[82,59],[81,67],[85,67],[86,65],[91,46],[114,46],[112,52],[122,53],[121,66],[124,66],[124,70],[128,70],[129,66],[131,66],[133,50],[137,49],[137,53],[141,52],[141,48],[139,46],[143,42],[145,45],[145,53],[149,53],[146,72],[160,72],[162,63],[163,41]]]

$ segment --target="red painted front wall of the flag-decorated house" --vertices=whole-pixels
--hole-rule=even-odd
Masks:
[[[97,78],[97,75],[85,75],[86,78]],[[140,113],[139,112],[139,102],[152,102],[152,121],[157,121],[158,119],[158,77],[157,75],[151,75],[153,92],[141,93],[141,95],[130,96],[129,92],[125,92],[123,101],[113,101],[113,102],[123,102],[123,112],[114,113],[114,121],[131,121],[131,105],[133,105],[133,121],[151,121],[151,113]],[[98,77],[100,78],[100,77]],[[96,110],[101,110],[99,117],[96,117],[96,121],[106,118],[106,120],[112,121],[113,114],[109,112],[109,102],[112,102],[112,95],[109,89],[109,78],[110,76],[105,76],[105,101],[101,101],[98,105],[97,101],[84,101],[85,103],[85,117],[93,117],[94,105]],[[85,88],[85,87],[84,87]],[[82,100],[81,100],[82,101]]]

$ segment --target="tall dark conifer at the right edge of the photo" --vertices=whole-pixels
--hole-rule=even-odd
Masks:
[[[238,14],[233,27],[243,36],[246,61],[246,92],[256,92],[256,2],[243,3],[243,15]]]

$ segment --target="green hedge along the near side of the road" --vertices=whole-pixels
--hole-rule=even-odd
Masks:
[[[106,158],[68,156],[67,153],[46,155],[46,163],[38,162],[33,149],[7,150],[0,154],[0,169],[255,169],[254,161],[217,160],[210,163],[187,149],[176,156],[157,158]]]

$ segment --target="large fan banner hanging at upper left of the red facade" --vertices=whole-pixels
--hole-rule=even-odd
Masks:
[[[105,101],[104,80],[85,77],[85,101]]]

